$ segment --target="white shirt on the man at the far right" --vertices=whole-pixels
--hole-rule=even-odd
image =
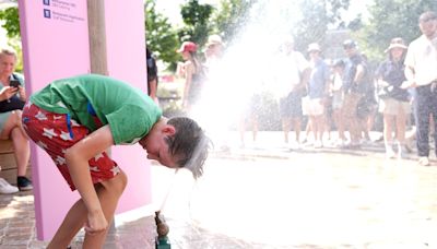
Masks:
[[[422,35],[413,40],[406,51],[406,67],[414,69],[417,85],[427,85],[437,80],[437,37],[428,39]]]

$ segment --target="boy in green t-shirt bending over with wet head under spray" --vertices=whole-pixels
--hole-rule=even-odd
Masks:
[[[127,186],[126,174],[105,152],[110,146],[138,143],[149,159],[187,168],[194,178],[203,173],[209,147],[192,119],[164,118],[141,90],[96,74],[58,80],[32,95],[23,127],[81,197],[48,248],[67,248],[83,226],[83,248],[102,248]]]

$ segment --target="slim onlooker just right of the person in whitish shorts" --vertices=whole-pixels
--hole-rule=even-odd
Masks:
[[[346,135],[344,134],[344,120],[342,116],[343,108],[343,74],[345,63],[343,60],[339,60],[333,66],[333,73],[330,82],[330,92],[332,94],[332,116],[335,123],[339,138],[336,141],[338,146],[344,146],[346,144]]]

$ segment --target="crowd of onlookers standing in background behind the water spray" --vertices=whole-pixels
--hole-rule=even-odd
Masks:
[[[364,143],[383,140],[386,156],[398,158],[412,153],[416,140],[418,163],[429,165],[430,134],[436,141],[435,127],[430,124],[436,126],[437,118],[437,75],[433,70],[437,68],[436,13],[424,12],[418,24],[423,35],[410,46],[403,38],[393,37],[385,50],[387,59],[377,67],[370,66],[353,39],[342,43],[345,58],[328,60],[319,44],[309,44],[307,55],[303,55],[295,50],[293,37],[284,38],[267,91],[276,92],[286,146],[292,150],[327,145],[361,150]],[[216,37],[210,39],[223,45]],[[210,58],[212,61],[220,59],[212,56],[214,54],[206,46],[206,59],[202,62],[198,47],[192,42],[185,42],[178,50],[185,60],[179,74],[186,80],[182,98],[188,111],[199,99],[202,81],[208,78],[203,70],[214,67],[215,62]],[[257,111],[261,99],[259,95],[252,97],[247,103],[253,106],[241,116],[238,126],[241,144],[247,121],[252,128],[252,140],[257,139]],[[382,117],[382,137],[370,138],[378,112]],[[408,137],[408,128],[415,135]],[[338,132],[335,138],[331,135],[331,129]],[[295,132],[293,140],[290,139],[291,131]]]

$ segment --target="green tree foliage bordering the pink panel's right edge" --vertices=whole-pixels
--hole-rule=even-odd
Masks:
[[[178,59],[176,49],[179,40],[176,31],[167,17],[155,11],[155,1],[145,2],[145,35],[147,47],[162,61],[169,62],[170,68],[176,68]]]

